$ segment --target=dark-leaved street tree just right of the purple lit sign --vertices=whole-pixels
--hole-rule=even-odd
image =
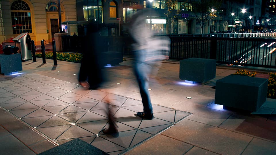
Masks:
[[[208,23],[214,13],[213,8],[219,9],[221,0],[196,0],[193,1],[193,12],[199,21],[201,33],[203,33],[204,26]]]

